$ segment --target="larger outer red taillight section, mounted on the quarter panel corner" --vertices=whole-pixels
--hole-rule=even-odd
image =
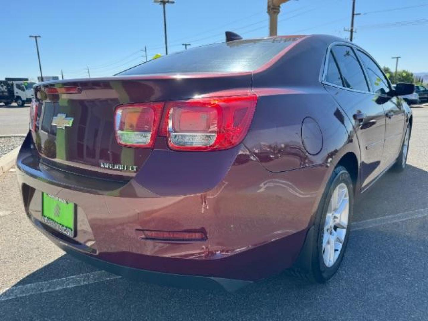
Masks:
[[[220,150],[241,143],[257,96],[201,98],[166,103],[168,145],[175,150]]]

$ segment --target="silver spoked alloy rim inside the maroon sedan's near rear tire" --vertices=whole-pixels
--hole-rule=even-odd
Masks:
[[[349,190],[346,184],[340,183],[331,195],[324,222],[322,254],[328,268],[339,258],[348,230],[348,218]]]

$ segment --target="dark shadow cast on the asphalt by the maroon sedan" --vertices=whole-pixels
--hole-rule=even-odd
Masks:
[[[427,187],[428,172],[417,167],[388,173],[360,199],[354,220],[428,208]],[[7,320],[423,319],[428,311],[422,294],[428,288],[427,230],[427,218],[420,217],[354,231],[342,267],[325,284],[281,273],[228,293],[118,278],[0,302],[0,319],[2,313]],[[64,255],[16,285],[95,270]]]

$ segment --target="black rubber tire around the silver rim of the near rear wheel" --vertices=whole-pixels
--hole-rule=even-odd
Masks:
[[[332,193],[341,183],[344,183],[348,188],[348,228],[346,229],[345,238],[343,240],[342,249],[339,252],[339,256],[332,266],[327,267],[327,265],[324,263],[322,248],[324,224],[327,217],[327,211]],[[343,256],[346,252],[353,213],[354,187],[352,184],[351,175],[349,175],[349,172],[345,167],[337,166],[327,183],[326,189],[324,190],[324,194],[318,206],[317,213],[315,214],[316,216],[314,225],[311,229],[309,229],[309,232],[306,235],[306,241],[303,245],[303,249],[294,265],[294,268],[288,270],[290,274],[306,279],[313,283],[324,283],[329,280],[339,269],[343,260]]]

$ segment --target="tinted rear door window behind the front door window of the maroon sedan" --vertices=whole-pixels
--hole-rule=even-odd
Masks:
[[[352,48],[335,46],[332,51],[342,73],[345,87],[364,92],[369,91],[363,69]]]

